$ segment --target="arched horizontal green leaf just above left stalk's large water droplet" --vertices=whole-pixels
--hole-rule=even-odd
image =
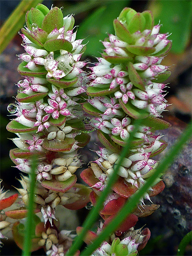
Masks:
[[[48,40],[44,44],[44,48],[49,52],[54,52],[57,50],[66,50],[67,52],[70,52],[73,49],[73,46],[66,39],[52,39]]]

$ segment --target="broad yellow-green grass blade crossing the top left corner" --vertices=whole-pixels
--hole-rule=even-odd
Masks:
[[[0,53],[3,52],[14,38],[15,34],[23,27],[26,12],[41,2],[42,0],[22,0],[16,9],[14,9],[12,14],[0,28]]]

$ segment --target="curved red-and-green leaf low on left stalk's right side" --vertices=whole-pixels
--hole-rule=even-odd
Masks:
[[[64,207],[70,210],[79,210],[85,207],[85,205],[90,202],[89,194],[92,190],[82,184],[75,184],[73,188],[74,187],[80,189],[77,194],[79,194],[81,198],[73,204],[65,204]]]

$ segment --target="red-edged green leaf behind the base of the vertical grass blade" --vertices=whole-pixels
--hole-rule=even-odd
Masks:
[[[23,245],[24,245],[24,234],[21,236],[18,232],[18,226],[19,226],[19,221],[15,222],[12,228],[13,232],[13,237],[14,237],[14,242],[16,242],[17,246],[23,250]],[[32,239],[32,248],[31,251],[37,251],[38,249],[42,248],[41,246],[38,245],[38,242],[42,239],[42,237],[39,238],[33,238]]]

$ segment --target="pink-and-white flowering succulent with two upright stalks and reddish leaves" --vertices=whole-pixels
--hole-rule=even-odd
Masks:
[[[85,242],[90,243],[98,236],[157,166],[151,157],[164,150],[166,142],[154,131],[169,127],[169,123],[158,118],[167,107],[165,85],[161,82],[169,76],[168,67],[160,62],[171,42],[167,40],[168,34],[159,34],[160,25],[154,26],[149,11],[138,14],[125,8],[114,21],[116,35],[109,35],[103,42],[106,49],[102,58],[98,58],[98,63],[90,67],[91,74],[86,76],[82,70],[86,62],[80,61],[86,46],[83,40],[75,40],[72,15],[63,18],[61,9],[49,10],[39,4],[27,12],[26,24],[21,34],[25,53],[18,56],[23,61],[18,71],[24,79],[17,83],[17,103],[8,106],[16,118],[7,129],[18,136],[12,139],[18,148],[11,150],[10,157],[15,167],[27,175],[32,170],[33,156],[37,159],[35,213],[42,213],[43,222],[36,219],[32,250],[44,247],[48,256],[64,256],[74,235],[59,231],[56,206],[76,210],[90,201],[96,204],[119,161],[121,148],[134,129],[134,119],[143,120],[129,154],[121,163],[119,178],[100,211],[104,223],[97,233],[90,231]],[[85,92],[89,95],[86,102]],[[97,151],[99,158],[81,172],[81,178],[92,190],[77,184],[75,175],[81,167],[78,149],[89,142],[84,124],[90,115],[94,116],[91,125],[98,130],[98,138],[104,145]],[[30,179],[22,175],[19,181],[20,208],[1,212],[2,228],[10,225],[6,217],[26,217]],[[145,205],[144,199],[150,200],[163,189],[163,181],[156,180],[140,199],[142,210],[138,205],[93,256],[137,255],[150,238],[150,231],[133,227],[138,217],[148,216],[159,207]],[[17,198],[18,194],[5,198],[3,193],[0,210]],[[22,248],[20,228],[17,221],[12,230]],[[78,227],[77,234],[80,231]]]

